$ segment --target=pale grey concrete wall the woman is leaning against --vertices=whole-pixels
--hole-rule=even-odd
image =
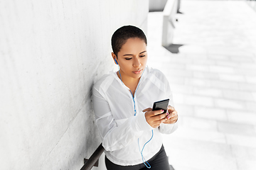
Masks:
[[[0,169],[80,169],[100,145],[93,82],[112,69],[110,38],[146,31],[147,0],[1,1]]]

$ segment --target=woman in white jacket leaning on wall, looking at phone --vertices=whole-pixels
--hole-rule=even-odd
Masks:
[[[169,82],[146,67],[146,36],[135,26],[112,35],[112,58],[119,71],[104,75],[93,87],[93,106],[107,169],[169,169],[161,133],[178,127]],[[154,101],[169,98],[168,112],[152,111]]]

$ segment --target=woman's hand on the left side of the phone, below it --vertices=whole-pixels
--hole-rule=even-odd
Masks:
[[[152,111],[152,108],[146,108],[143,112],[146,112],[146,122],[149,123],[152,128],[158,128],[161,123],[167,120],[167,113],[164,113],[164,110]]]

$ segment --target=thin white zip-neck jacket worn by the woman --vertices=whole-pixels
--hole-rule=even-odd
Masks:
[[[162,123],[159,128],[151,128],[142,112],[145,108],[152,108],[154,101],[166,98],[170,99],[169,105],[174,106],[169,82],[157,69],[146,67],[142,74],[134,96],[136,116],[132,94],[116,72],[106,74],[97,81],[92,94],[102,146],[107,158],[114,164],[127,166],[143,163],[139,147],[142,149],[149,141],[153,130],[154,136],[143,150],[144,158],[151,159],[161,149],[161,133],[169,134],[178,128],[178,123]]]

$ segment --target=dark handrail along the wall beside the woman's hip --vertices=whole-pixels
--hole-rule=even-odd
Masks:
[[[102,147],[102,143],[99,147],[93,152],[93,154],[90,156],[90,158],[85,162],[84,166],[80,170],[90,170],[92,169],[92,166],[95,165],[97,160],[100,158],[100,155],[104,152],[104,147]]]

